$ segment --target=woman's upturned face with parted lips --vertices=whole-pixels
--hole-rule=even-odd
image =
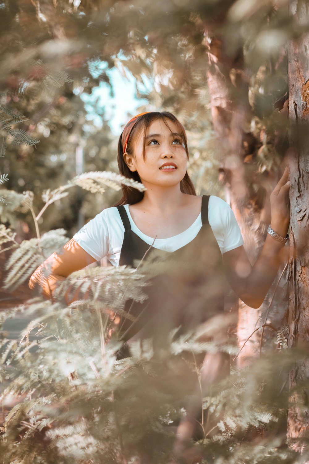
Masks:
[[[150,124],[146,131],[145,161],[143,159],[143,130],[137,133],[134,144],[134,156],[124,155],[131,171],[137,171],[141,182],[171,187],[183,180],[187,170],[187,153],[176,124],[158,119]],[[171,130],[171,132],[170,132]],[[165,163],[176,168],[162,169]]]

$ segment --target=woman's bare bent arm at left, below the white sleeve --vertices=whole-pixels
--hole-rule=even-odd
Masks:
[[[29,280],[29,287],[34,289],[38,285],[43,290],[43,296],[46,298],[53,297],[58,282],[65,280],[72,272],[79,271],[88,264],[95,262],[96,259],[78,245],[74,238],[71,238],[60,251],[51,254],[33,272]],[[71,303],[75,299],[77,299],[77,295],[74,295],[73,299],[70,299],[67,303]]]

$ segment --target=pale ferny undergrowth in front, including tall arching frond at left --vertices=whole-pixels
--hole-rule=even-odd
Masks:
[[[13,230],[0,226],[1,252],[9,255],[3,288],[13,292],[67,242],[63,229],[40,233],[38,219],[50,204],[76,185],[104,193],[106,187],[119,189],[121,183],[144,188],[114,173],[86,173],[64,187],[44,191],[38,214],[32,192],[2,189],[3,211],[10,215],[21,206],[29,208],[37,232],[37,238],[19,244]],[[221,351],[232,360],[239,348],[214,337],[205,341],[202,335],[226,329],[231,322],[216,316],[196,330],[170,332],[164,348],[155,348],[151,338],[137,340],[126,358],[117,359],[123,345],[117,317],[134,321],[124,311],[126,300],[143,301],[146,277],[159,271],[156,263],[141,263],[137,269],[85,268],[61,282],[53,298],[37,290],[24,303],[0,313],[2,404],[9,397],[19,398],[1,428],[1,463],[171,462],[177,425],[194,394],[190,382],[201,377],[197,356]],[[66,303],[76,290],[79,299]],[[31,322],[19,339],[11,340],[3,327],[16,316]],[[305,407],[302,385],[290,389],[289,370],[305,355],[304,348],[288,348],[281,331],[271,351],[243,368],[232,363],[228,377],[214,383],[207,396],[201,393],[198,437],[188,443],[197,457],[190,462],[305,462],[306,438],[302,455],[286,438],[291,396],[299,398],[300,409]]]

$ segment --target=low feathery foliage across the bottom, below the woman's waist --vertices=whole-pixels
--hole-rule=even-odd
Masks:
[[[115,300],[106,290],[123,277],[127,282],[129,274],[101,268],[99,275],[104,284],[88,301],[65,306],[37,297],[2,314],[2,322],[20,312],[32,318],[19,341],[5,335],[1,340],[3,396],[25,395],[6,417],[4,464],[120,463],[124,456],[126,462],[134,457],[143,462],[143,456],[168,462],[184,399],[192,394],[186,382],[199,375],[192,352],[218,346],[198,342],[192,333],[171,334],[163,353],[150,339],[137,341],[130,357],[116,361],[121,342],[108,335],[113,322],[107,309]],[[122,292],[120,284],[113,297]],[[214,431],[194,444],[202,454],[199,462],[301,462],[284,447],[283,431],[290,393],[285,378],[304,355],[282,348],[213,386],[202,403]],[[182,359],[187,361],[179,366]]]

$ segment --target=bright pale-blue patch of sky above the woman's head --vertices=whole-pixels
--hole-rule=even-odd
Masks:
[[[96,62],[89,70],[95,76],[100,75],[100,70],[106,69],[107,64]],[[100,113],[107,119],[114,135],[120,135],[121,126],[128,121],[128,113],[134,115],[140,105],[147,104],[145,98],[136,97],[136,79],[130,71],[126,70],[126,76],[122,76],[117,68],[107,70],[107,75],[111,80],[114,96],[111,96],[110,87],[101,81],[98,87],[93,88],[91,95],[82,93],[81,98],[85,102],[85,109],[88,112],[87,119],[93,120],[96,125],[101,126]],[[139,91],[146,91],[151,88],[151,81],[143,76],[144,86],[139,84]]]

